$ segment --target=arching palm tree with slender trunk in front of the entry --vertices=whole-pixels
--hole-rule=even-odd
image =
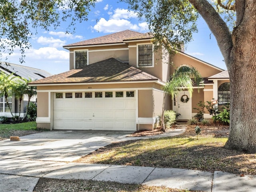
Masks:
[[[180,66],[176,70],[172,76],[170,76],[170,81],[167,81],[164,86],[162,86],[162,90],[164,91],[164,99],[162,106],[162,122],[161,129],[165,131],[164,125],[164,103],[166,93],[171,95],[174,98],[174,94],[177,94],[180,90],[188,89],[190,96],[192,97],[193,92],[193,81],[191,78],[194,78],[194,82],[199,85],[201,81],[201,75],[198,70],[192,66]]]

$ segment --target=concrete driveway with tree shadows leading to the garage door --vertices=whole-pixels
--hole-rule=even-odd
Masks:
[[[0,141],[0,158],[70,162],[112,142],[125,140],[132,132],[58,130]],[[131,138],[129,138],[131,139]]]

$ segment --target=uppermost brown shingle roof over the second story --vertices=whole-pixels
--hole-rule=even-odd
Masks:
[[[114,44],[114,43],[123,43],[124,39],[130,39],[135,36],[141,36],[143,33],[131,31],[131,30],[124,30],[112,34],[108,34],[105,36],[76,42],[73,44],[68,44],[63,46],[63,48],[73,47],[73,46],[86,46],[86,45],[97,45],[97,44]]]

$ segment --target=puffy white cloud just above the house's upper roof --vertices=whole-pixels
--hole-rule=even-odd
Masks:
[[[100,18],[100,20],[97,22],[97,24],[93,27],[94,30],[97,30],[99,32],[104,33],[113,33],[118,32],[126,29],[131,30],[139,30],[140,28],[136,24],[132,24],[128,20],[120,19],[120,20],[114,20],[110,19],[106,21],[104,18]]]

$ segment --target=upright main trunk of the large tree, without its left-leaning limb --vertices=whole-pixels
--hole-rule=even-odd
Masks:
[[[239,9],[228,68],[230,136],[225,147],[256,153],[256,6],[247,1]]]

